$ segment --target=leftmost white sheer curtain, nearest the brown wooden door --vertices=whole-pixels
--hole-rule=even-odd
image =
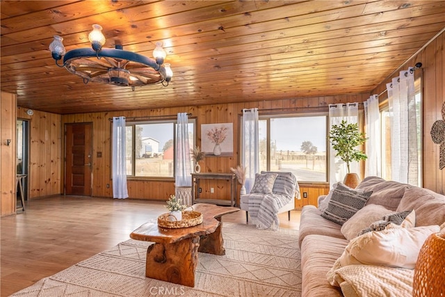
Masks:
[[[128,198],[125,117],[113,118],[113,198]]]

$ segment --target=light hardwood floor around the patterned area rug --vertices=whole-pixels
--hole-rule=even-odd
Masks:
[[[26,211],[1,218],[1,296],[129,239],[137,227],[166,212],[164,202],[56,196],[25,202]],[[245,223],[245,211],[223,216]],[[300,211],[280,214],[280,227],[296,229]]]

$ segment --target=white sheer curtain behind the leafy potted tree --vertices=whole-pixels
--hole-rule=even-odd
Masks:
[[[329,131],[332,125],[339,125],[341,120],[346,120],[348,124],[355,124],[358,122],[359,115],[359,104],[355,103],[340,103],[340,104],[330,104],[329,105]],[[337,182],[343,182],[346,173],[348,173],[348,168],[346,163],[343,162],[339,157],[335,156],[337,151],[329,145],[329,183],[330,187]],[[350,172],[359,173],[359,163],[350,163]]]

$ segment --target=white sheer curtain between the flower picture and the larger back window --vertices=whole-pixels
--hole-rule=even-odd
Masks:
[[[241,164],[245,168],[245,191],[250,193],[259,172],[258,109],[243,109],[241,125]]]

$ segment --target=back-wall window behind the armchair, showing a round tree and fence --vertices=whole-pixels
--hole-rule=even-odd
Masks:
[[[290,171],[298,182],[327,182],[327,115],[261,116],[260,170]]]

